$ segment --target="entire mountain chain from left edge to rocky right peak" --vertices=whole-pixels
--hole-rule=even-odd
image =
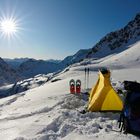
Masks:
[[[64,60],[35,60],[30,58],[0,58],[0,85],[16,82],[19,79],[48,74],[85,59],[99,59],[122,52],[140,40],[140,13],[125,27],[103,37],[90,49],[79,50]]]

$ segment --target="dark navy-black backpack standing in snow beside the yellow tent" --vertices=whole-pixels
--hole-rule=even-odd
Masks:
[[[126,97],[120,115],[120,131],[140,135],[140,83],[124,81]]]

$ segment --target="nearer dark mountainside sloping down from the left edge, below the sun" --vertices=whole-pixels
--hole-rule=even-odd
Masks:
[[[0,86],[20,80],[19,74],[0,58]]]

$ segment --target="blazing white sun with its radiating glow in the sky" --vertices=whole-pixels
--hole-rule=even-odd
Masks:
[[[28,16],[28,15],[27,15]],[[26,15],[19,14],[15,9],[0,10],[0,41],[7,41],[8,45],[15,41],[22,41],[25,32]]]

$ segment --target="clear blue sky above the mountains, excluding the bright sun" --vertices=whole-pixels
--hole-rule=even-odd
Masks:
[[[140,12],[140,0],[0,0],[0,16],[19,21],[17,35],[0,36],[0,57],[63,59],[91,48]]]

